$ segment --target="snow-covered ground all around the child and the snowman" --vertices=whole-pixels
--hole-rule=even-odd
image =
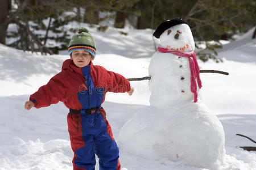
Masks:
[[[150,29],[109,28],[105,33],[89,30],[92,30],[97,45],[94,65],[102,65],[126,78],[148,75],[150,57],[155,51]],[[121,35],[118,31],[128,35]],[[203,100],[224,126],[227,155],[222,169],[256,169],[256,153],[238,148],[256,146],[255,143],[236,135],[240,133],[256,139],[256,40],[249,38],[251,33],[249,31],[224,45],[218,54],[226,58],[223,63],[199,61],[201,69],[222,70],[230,74],[201,74]],[[62,62],[69,57],[62,54],[41,56],[0,45],[1,170],[72,169],[68,109],[62,103],[33,108],[29,112],[24,109],[24,102],[30,94],[60,71]],[[103,107],[116,139],[122,126],[138,110],[150,105],[147,81],[131,82],[135,87],[133,96],[106,95]],[[129,170],[202,169],[166,159],[144,159],[122,151],[122,148],[120,161],[122,167]]]

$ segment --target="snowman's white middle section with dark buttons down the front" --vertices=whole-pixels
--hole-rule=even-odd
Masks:
[[[193,100],[188,58],[156,52],[151,58],[148,71],[151,76],[150,105],[162,107]]]

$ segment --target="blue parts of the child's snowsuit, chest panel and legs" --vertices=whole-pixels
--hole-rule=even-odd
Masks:
[[[101,107],[104,98],[104,88],[94,88],[90,66],[82,68],[85,77],[85,85],[88,90],[77,94],[82,105],[81,124],[82,138],[85,147],[75,151],[77,159],[74,163],[77,167],[93,170],[96,164],[95,154],[100,158],[100,169],[113,170],[117,168],[119,149],[114,140],[106,131],[107,125],[102,114],[86,114],[85,109]],[[99,111],[98,111],[99,112]]]

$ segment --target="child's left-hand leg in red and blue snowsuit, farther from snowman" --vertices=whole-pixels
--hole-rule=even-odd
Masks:
[[[68,114],[68,132],[74,152],[74,170],[94,170],[96,160],[93,137],[82,137],[81,114]]]

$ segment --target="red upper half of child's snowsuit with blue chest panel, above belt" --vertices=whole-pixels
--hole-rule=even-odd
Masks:
[[[63,101],[67,108],[90,109],[99,107],[106,92],[130,91],[130,82],[120,74],[94,66],[76,67],[71,59],[63,62],[62,71],[30,96],[36,108],[48,107]]]

